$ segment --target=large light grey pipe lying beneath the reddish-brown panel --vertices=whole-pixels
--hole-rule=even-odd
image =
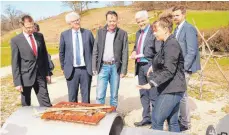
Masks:
[[[46,121],[34,115],[43,107],[21,107],[4,123],[2,135],[120,135],[124,122],[118,113],[107,114],[98,125]]]

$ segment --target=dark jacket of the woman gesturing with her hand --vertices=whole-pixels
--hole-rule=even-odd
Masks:
[[[152,85],[153,80],[161,94],[184,92],[187,89],[184,72],[181,47],[174,35],[171,35],[155,55],[149,83]]]

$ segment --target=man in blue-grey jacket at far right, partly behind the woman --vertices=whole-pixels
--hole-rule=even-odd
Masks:
[[[198,49],[198,35],[196,29],[185,21],[186,9],[183,6],[175,6],[172,9],[173,19],[177,27],[174,31],[174,36],[179,42],[182,53],[184,56],[184,69],[186,84],[190,76],[201,69],[200,67],[200,55]],[[188,107],[188,95],[185,92],[184,97],[180,103],[180,129],[181,131],[190,129],[190,112]]]

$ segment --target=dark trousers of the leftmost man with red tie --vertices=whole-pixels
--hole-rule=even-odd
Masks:
[[[47,81],[42,77],[39,72],[37,73],[36,80],[33,86],[23,87],[23,92],[21,92],[21,104],[22,106],[31,105],[31,90],[34,89],[38,102],[40,106],[50,107],[52,106],[49,98],[49,93],[47,89]]]

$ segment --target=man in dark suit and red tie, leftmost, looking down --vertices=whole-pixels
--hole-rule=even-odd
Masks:
[[[21,92],[22,106],[31,105],[31,89],[40,106],[52,106],[47,90],[51,78],[44,37],[34,33],[34,21],[25,15],[21,19],[23,32],[11,39],[12,74],[16,89]]]

